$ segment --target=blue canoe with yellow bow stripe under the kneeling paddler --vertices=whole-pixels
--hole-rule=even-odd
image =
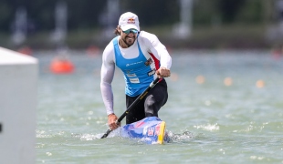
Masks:
[[[140,121],[121,127],[121,137],[141,138],[147,144],[169,142],[166,123],[157,117],[143,118]]]

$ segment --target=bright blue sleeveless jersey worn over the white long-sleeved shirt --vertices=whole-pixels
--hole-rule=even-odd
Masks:
[[[142,54],[141,47],[137,40],[139,47],[139,56],[136,58],[127,59],[121,55],[118,45],[118,36],[113,39],[116,66],[121,68],[125,79],[125,94],[130,97],[136,97],[149,87],[154,79],[155,68],[151,68],[147,62],[150,60],[145,58]]]

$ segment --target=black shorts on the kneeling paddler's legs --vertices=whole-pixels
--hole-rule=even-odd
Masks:
[[[139,96],[137,96],[139,97]],[[137,97],[129,97],[126,95],[126,106],[129,108],[131,103]],[[131,108],[126,116],[126,124],[131,124],[147,117],[158,117],[158,111],[167,102],[168,92],[167,83],[165,79],[152,87],[149,93],[142,98],[142,100],[134,107]]]

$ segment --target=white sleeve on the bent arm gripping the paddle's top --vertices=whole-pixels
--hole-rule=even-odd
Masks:
[[[172,57],[169,55],[165,46],[159,41],[157,36],[142,31],[140,34],[141,41],[145,46],[149,47],[149,51],[160,60],[161,67],[171,68]]]

